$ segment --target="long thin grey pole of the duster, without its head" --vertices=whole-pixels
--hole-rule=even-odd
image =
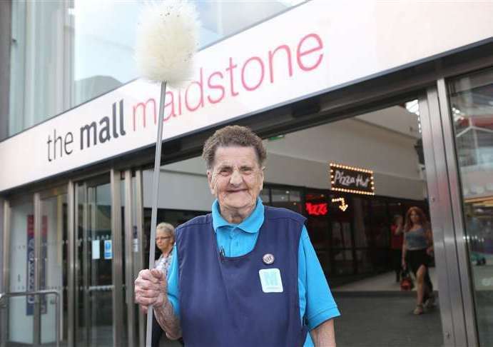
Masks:
[[[154,268],[154,252],[156,250],[156,223],[158,219],[159,174],[161,168],[161,144],[163,143],[163,119],[165,99],[166,81],[161,82],[161,99],[159,100],[158,137],[156,139],[156,156],[154,157],[151,237],[149,238],[149,270],[151,270],[151,268]],[[149,306],[149,308],[147,309],[146,347],[151,347],[153,335],[153,314],[153,308],[152,306]]]

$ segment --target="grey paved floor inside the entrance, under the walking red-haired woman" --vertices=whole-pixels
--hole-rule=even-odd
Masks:
[[[335,321],[337,347],[440,347],[439,308],[412,314],[415,297],[398,293],[334,293],[342,316]]]

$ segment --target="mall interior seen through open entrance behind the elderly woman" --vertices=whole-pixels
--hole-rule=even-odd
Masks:
[[[393,314],[388,323],[397,326],[389,331],[400,331],[396,343],[405,338],[414,346],[442,346],[438,300],[423,319],[415,319],[415,291],[401,290],[392,255],[395,216],[405,217],[417,206],[430,220],[417,100],[279,134],[265,139],[265,146],[261,198],[265,205],[289,208],[307,218],[310,240],[344,316],[340,328],[336,323],[342,334],[338,344],[359,346],[349,326],[366,321],[369,330],[381,331],[379,315]],[[360,179],[369,183],[360,191],[341,188],[344,180],[334,182],[337,168],[355,179],[362,174]],[[144,171],[144,231],[151,221],[151,175]],[[208,213],[213,197],[202,159],[162,166],[159,195],[158,221],[178,226]],[[433,263],[430,276],[437,294]],[[356,311],[356,304],[365,312]],[[402,331],[400,324],[409,328]]]

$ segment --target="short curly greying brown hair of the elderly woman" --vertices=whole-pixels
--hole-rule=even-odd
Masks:
[[[225,126],[215,131],[213,136],[210,136],[205,141],[202,158],[205,160],[207,169],[212,168],[214,164],[215,150],[218,147],[228,146],[253,147],[257,154],[259,166],[263,166],[267,158],[267,151],[265,151],[262,139],[250,128],[246,126]]]

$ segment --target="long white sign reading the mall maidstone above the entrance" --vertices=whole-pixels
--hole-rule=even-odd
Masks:
[[[163,140],[487,39],[491,18],[493,6],[308,1],[198,52],[193,79],[167,92]],[[132,81],[6,139],[0,192],[152,146],[158,99]]]

